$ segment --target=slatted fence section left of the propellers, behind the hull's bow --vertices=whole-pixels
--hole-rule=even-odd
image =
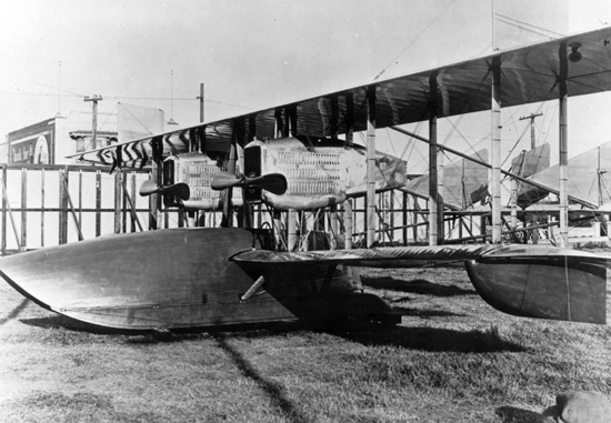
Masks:
[[[17,163],[0,169],[2,255],[150,226],[149,199],[138,195],[149,171],[109,174],[91,165]]]

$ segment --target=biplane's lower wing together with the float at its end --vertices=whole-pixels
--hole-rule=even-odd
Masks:
[[[609,256],[544,245],[439,245],[310,252],[246,251],[232,260],[247,271],[273,275],[307,263],[422,266],[464,261],[480,296],[508,314],[607,323]],[[290,281],[290,279],[289,279]]]

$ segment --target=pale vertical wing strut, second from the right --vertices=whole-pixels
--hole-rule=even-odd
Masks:
[[[501,242],[501,58],[492,58],[492,243]]]

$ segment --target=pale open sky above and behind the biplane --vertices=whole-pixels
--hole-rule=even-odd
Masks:
[[[200,83],[210,121],[611,24],[609,0],[22,0],[0,16],[2,135],[88,111],[93,94],[102,124],[124,102],[187,127]],[[570,101],[570,155],[611,140],[609,95]],[[537,137],[555,144],[557,104],[541,110]],[[531,111],[504,114],[505,152]],[[489,122],[441,123],[440,138],[483,148]]]

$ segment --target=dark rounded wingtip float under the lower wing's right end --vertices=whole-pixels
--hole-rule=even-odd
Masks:
[[[609,262],[577,250],[511,245],[465,268],[480,296],[504,313],[605,324]]]

